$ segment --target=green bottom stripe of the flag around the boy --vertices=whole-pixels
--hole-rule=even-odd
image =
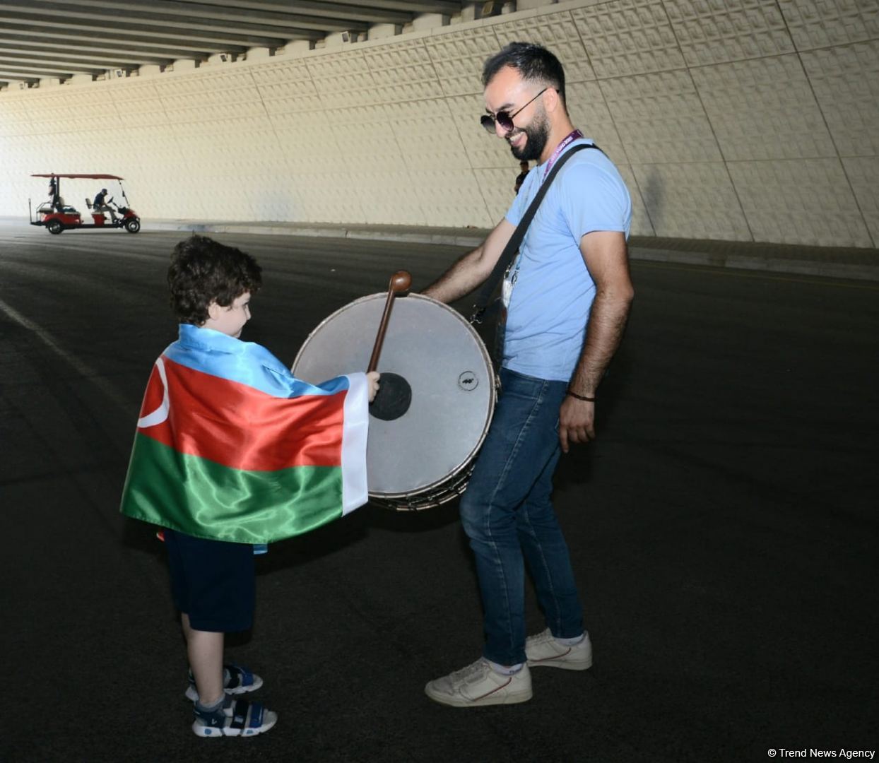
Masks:
[[[270,543],[342,515],[342,469],[229,469],[137,432],[121,511],[200,538]]]

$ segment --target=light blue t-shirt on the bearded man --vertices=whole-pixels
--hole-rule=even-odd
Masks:
[[[580,143],[592,140],[571,142],[563,153]],[[528,172],[506,214],[513,225],[540,190],[545,169],[544,163]],[[549,186],[510,268],[504,367],[570,381],[595,298],[580,239],[593,230],[619,230],[628,238],[631,222],[632,202],[613,162],[598,149],[571,156]]]

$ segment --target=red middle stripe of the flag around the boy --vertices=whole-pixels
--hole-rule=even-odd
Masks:
[[[339,466],[346,391],[335,395],[274,397],[239,382],[203,374],[162,358],[171,411],[139,431],[179,453],[232,469],[275,471],[295,466]],[[141,416],[164,395],[153,367]]]

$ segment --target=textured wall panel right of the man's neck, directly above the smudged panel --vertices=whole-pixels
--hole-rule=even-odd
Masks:
[[[632,164],[721,159],[688,72],[628,76],[600,84]]]

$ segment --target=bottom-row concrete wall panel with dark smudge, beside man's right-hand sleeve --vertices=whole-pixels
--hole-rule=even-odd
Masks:
[[[657,236],[750,237],[723,163],[633,164],[632,170]]]

